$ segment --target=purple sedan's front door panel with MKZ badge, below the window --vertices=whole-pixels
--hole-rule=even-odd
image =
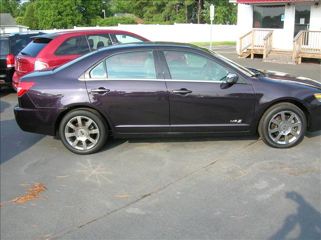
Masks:
[[[248,131],[254,112],[250,84],[167,81],[171,132]],[[189,94],[173,90],[187,89]]]

